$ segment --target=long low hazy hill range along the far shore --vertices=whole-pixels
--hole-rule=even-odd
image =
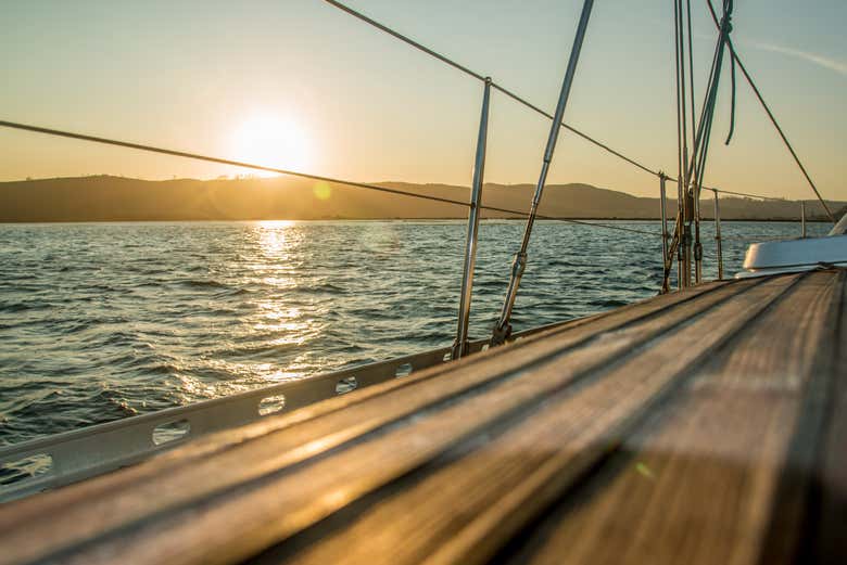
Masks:
[[[466,187],[380,183],[383,187],[467,201]],[[485,184],[483,204],[516,210],[529,207],[532,184]],[[707,198],[704,217],[711,217]],[[832,208],[847,205],[833,202]],[[669,216],[675,209],[669,200]],[[722,197],[723,219],[797,219],[799,203]],[[821,216],[808,203],[809,216]],[[589,184],[553,184],[541,214],[559,218],[649,219],[659,216],[659,200],[637,197]],[[464,218],[465,208],[364,189],[290,178],[149,181],[123,177],[77,177],[0,183],[0,221],[143,221],[263,219],[423,219]],[[513,215],[490,213],[488,218]]]

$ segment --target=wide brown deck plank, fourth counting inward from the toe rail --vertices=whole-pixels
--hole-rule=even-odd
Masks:
[[[834,283],[807,275],[625,441],[515,562],[793,562],[791,551],[761,560],[802,395],[832,339]]]

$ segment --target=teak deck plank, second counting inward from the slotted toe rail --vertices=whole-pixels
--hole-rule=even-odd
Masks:
[[[591,348],[578,348],[572,355],[581,355],[582,367],[587,369],[604,358],[614,359],[639,343],[649,342],[654,334],[685,322],[733,294],[745,296],[747,293],[742,291],[747,286],[753,287],[751,292],[770,288],[763,294],[772,295],[782,285],[783,281],[767,281],[731,285],[724,292],[719,288],[698,300],[682,303],[661,316],[648,318],[637,329],[617,330],[612,325],[610,338],[598,338]],[[500,360],[494,365],[490,371],[500,371]],[[524,360],[515,378],[473,396],[466,394],[460,402],[452,402],[443,410],[416,414],[404,425],[369,437],[368,441],[355,442],[331,458],[317,458],[294,472],[281,470],[241,483],[165,512],[155,519],[130,524],[69,548],[54,557],[90,564],[111,562],[118,555],[134,563],[224,563],[249,556],[427,463],[466,438],[484,436],[488,427],[510,411],[528,402],[536,403],[567,385],[580,368],[573,362],[567,371],[551,375],[553,378],[533,380],[534,371],[527,371],[528,367]],[[458,380],[464,374],[457,370],[451,376]],[[427,386],[441,387],[443,383],[443,380],[429,381]],[[422,394],[425,386],[418,388],[418,394]],[[382,405],[389,402],[383,400],[380,397],[372,402],[371,413],[387,408]],[[263,449],[273,451],[274,442],[269,438],[264,438],[263,444]],[[296,450],[311,452],[312,448],[306,445]],[[242,459],[239,466],[250,467],[254,463],[262,462]],[[229,472],[223,465],[218,471]]]

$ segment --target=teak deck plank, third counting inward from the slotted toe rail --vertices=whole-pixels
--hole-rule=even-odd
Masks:
[[[293,554],[282,545],[265,561],[285,556],[286,563],[296,564],[372,563],[390,549],[395,564],[485,562],[611,449],[681,371],[789,284],[791,280],[771,282],[719,305],[583,388],[551,398],[502,437],[489,437],[478,451],[448,460],[431,476],[397,486],[361,516],[345,516],[349,524],[340,531],[311,532],[312,541],[319,543]],[[682,350],[681,344],[704,326],[716,331]],[[571,356],[564,357],[549,374],[538,372],[533,377],[549,377],[570,362]]]

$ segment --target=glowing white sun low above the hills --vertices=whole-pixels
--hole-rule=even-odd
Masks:
[[[235,129],[232,152],[237,160],[295,171],[312,164],[311,140],[296,119],[273,113],[256,113]],[[274,177],[270,171],[255,171]]]

